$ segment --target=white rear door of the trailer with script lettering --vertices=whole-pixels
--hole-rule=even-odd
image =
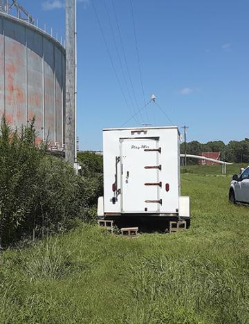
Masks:
[[[160,179],[156,138],[120,139],[122,213],[160,210]]]

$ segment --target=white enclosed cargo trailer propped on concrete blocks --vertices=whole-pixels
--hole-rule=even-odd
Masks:
[[[177,127],[103,130],[104,219],[143,216],[190,219],[190,199],[181,196]]]

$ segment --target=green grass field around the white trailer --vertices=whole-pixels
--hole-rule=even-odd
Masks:
[[[228,203],[221,167],[201,168],[182,176],[188,231],[130,240],[79,224],[3,253],[1,323],[249,323],[249,207]]]

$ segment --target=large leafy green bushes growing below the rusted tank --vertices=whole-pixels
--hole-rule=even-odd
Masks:
[[[97,199],[96,179],[79,177],[62,159],[35,144],[34,120],[12,132],[0,129],[0,239],[8,246],[21,238],[65,231],[87,219]]]

